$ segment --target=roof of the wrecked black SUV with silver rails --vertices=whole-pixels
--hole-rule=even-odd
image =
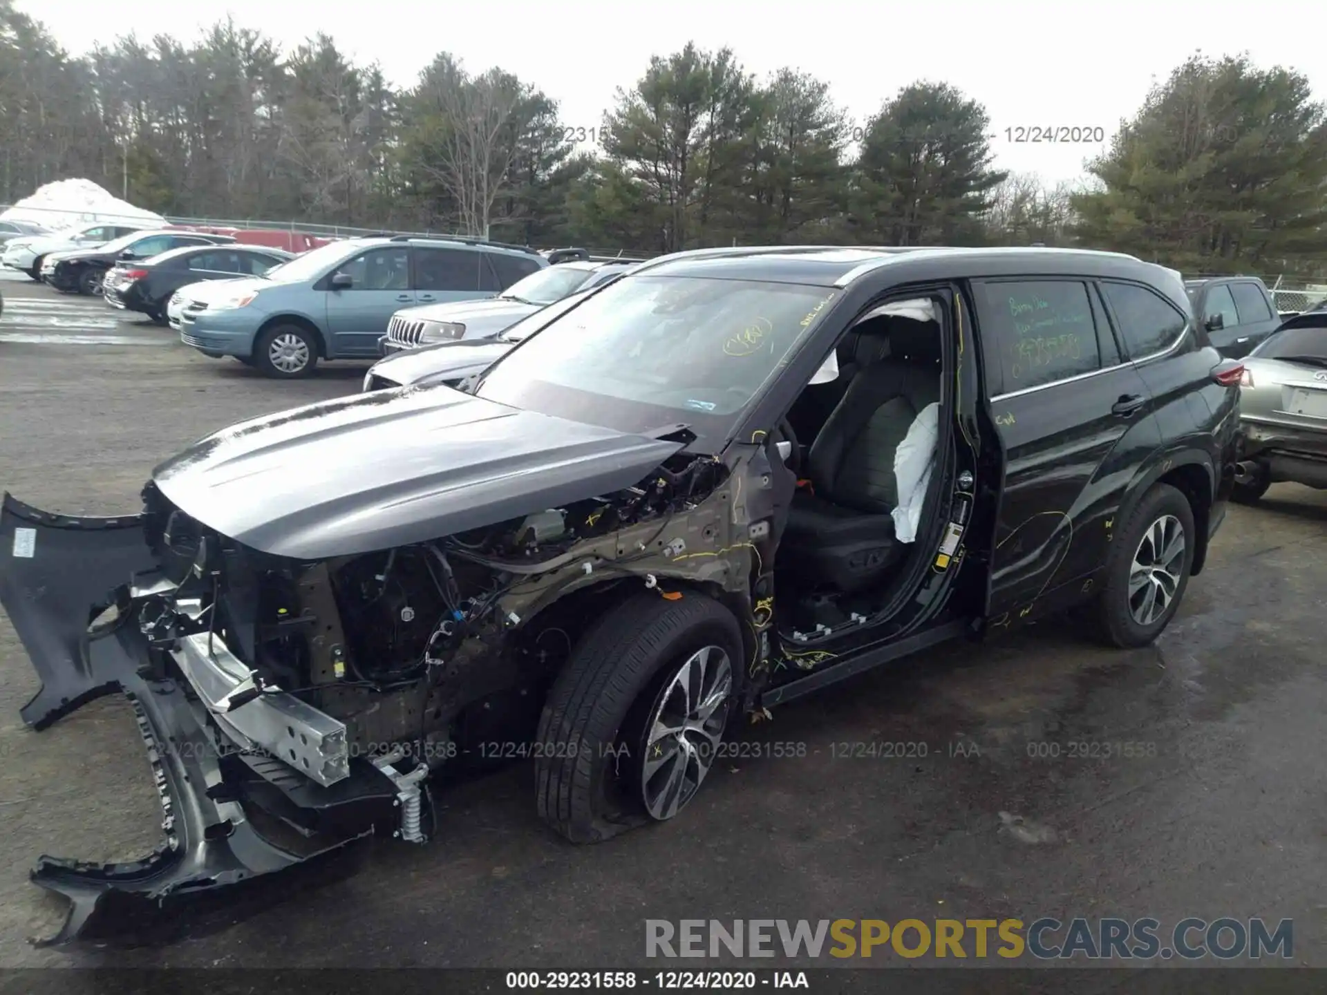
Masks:
[[[951,276],[1032,273],[1154,276],[1151,263],[1119,252],[1058,248],[946,248],[946,247],[844,247],[790,245],[730,249],[695,249],[640,264],[633,276],[705,276],[730,280],[764,280],[820,287],[847,287],[869,273],[916,271],[943,263]],[[957,268],[954,264],[959,264]],[[1145,269],[1140,269],[1145,268]]]

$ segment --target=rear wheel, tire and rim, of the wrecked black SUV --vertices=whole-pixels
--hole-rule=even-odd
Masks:
[[[1096,604],[1097,633],[1107,643],[1147,646],[1170,624],[1189,585],[1197,540],[1189,499],[1154,484],[1111,544]]]

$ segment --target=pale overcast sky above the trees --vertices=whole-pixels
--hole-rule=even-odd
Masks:
[[[111,32],[194,38],[231,15],[293,46],[322,29],[362,62],[409,85],[439,50],[470,70],[492,65],[559,101],[563,122],[597,127],[614,88],[634,82],[652,54],[689,40],[731,46],[758,76],[790,65],[829,82],[860,127],[914,80],[946,81],[986,105],[1002,168],[1074,179],[1101,145],[1018,143],[1009,129],[1079,127],[1105,135],[1137,109],[1153,80],[1194,50],[1247,52],[1261,66],[1306,73],[1327,97],[1318,3],[1263,0],[1223,7],[1185,0],[975,3],[971,0],[19,0],[70,52]],[[1096,131],[1101,134],[1101,131]]]

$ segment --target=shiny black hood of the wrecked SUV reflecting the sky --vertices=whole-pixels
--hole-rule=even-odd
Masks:
[[[620,491],[681,448],[451,387],[401,387],[242,422],[166,460],[153,480],[224,536],[322,560]]]

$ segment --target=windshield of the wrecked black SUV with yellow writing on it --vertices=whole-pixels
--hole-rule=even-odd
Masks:
[[[491,366],[478,395],[640,432],[686,423],[718,451],[836,292],[709,277],[628,276]]]

